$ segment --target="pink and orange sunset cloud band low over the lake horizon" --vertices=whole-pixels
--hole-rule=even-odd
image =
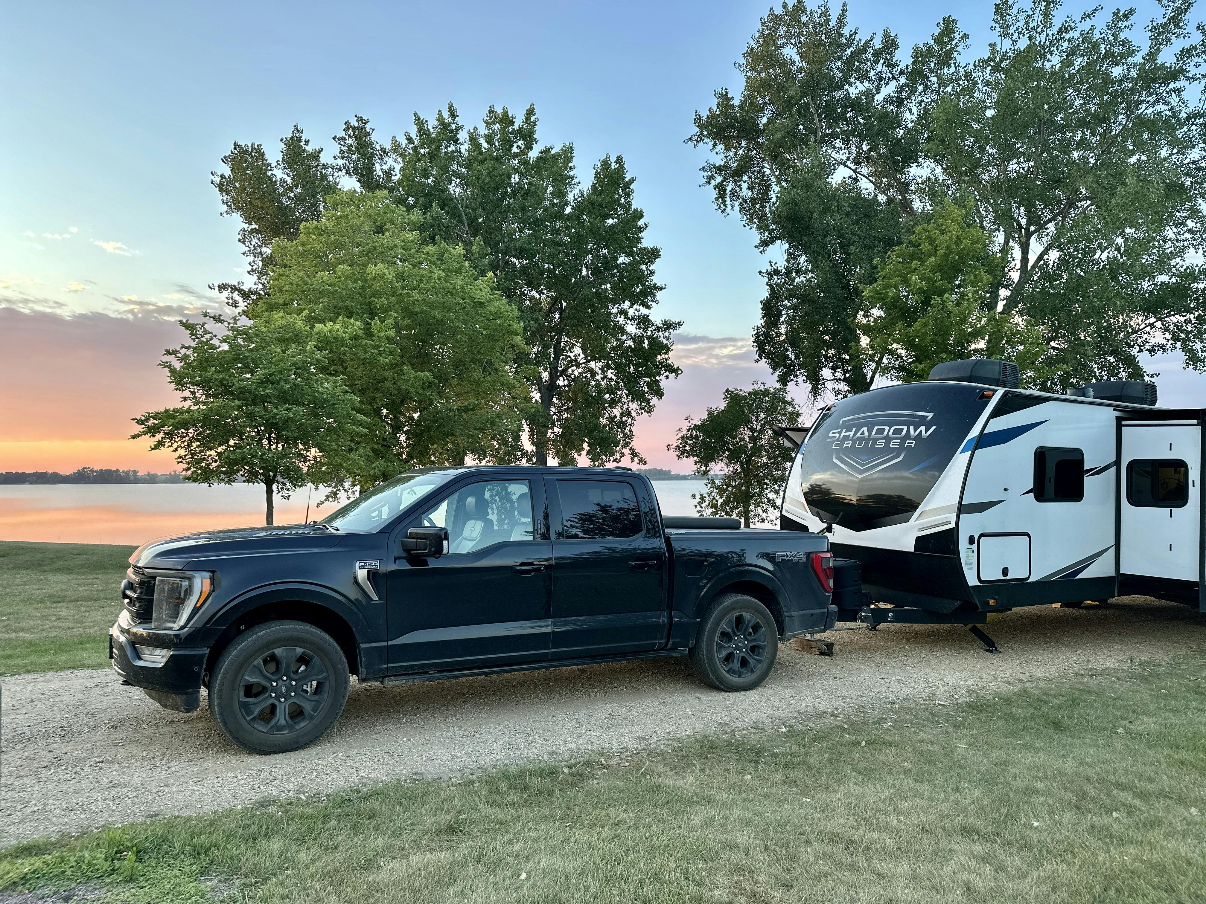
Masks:
[[[127,440],[130,418],[177,403],[158,363],[178,345],[174,321],[0,307],[0,470],[137,468],[172,470],[168,453]],[[718,405],[728,387],[773,382],[748,339],[678,335],[683,376],[666,383],[657,410],[637,421],[637,448],[656,468],[687,471],[666,446],[690,415]],[[803,403],[803,391],[794,391]]]

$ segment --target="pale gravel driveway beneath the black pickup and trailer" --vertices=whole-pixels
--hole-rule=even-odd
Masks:
[[[1206,617],[1146,599],[1019,610],[989,632],[997,656],[950,626],[832,633],[833,658],[784,645],[769,680],[745,694],[703,687],[685,659],[410,686],[353,682],[347,709],[324,738],[273,757],[234,747],[205,708],[189,715],[162,709],[107,670],[21,675],[4,680],[0,844],[265,796],[822,722],[908,700],[949,702],[1206,647]]]

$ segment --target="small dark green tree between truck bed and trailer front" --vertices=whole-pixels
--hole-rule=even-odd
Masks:
[[[689,417],[668,448],[693,459],[695,472],[708,479],[693,497],[696,510],[739,517],[745,527],[772,517],[792,458],[773,430],[795,427],[801,416],[783,387],[755,382],[749,389],[725,389],[724,405],[698,421]]]

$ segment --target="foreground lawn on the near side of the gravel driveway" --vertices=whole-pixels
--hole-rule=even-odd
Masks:
[[[1200,902],[1204,664],[37,841],[0,852],[0,888],[187,902],[212,897],[209,876],[232,900],[311,904]]]

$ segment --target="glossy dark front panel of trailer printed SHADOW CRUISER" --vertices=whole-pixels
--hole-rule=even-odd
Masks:
[[[850,530],[908,521],[988,405],[983,395],[983,386],[926,381],[837,403],[800,450],[808,507]]]

